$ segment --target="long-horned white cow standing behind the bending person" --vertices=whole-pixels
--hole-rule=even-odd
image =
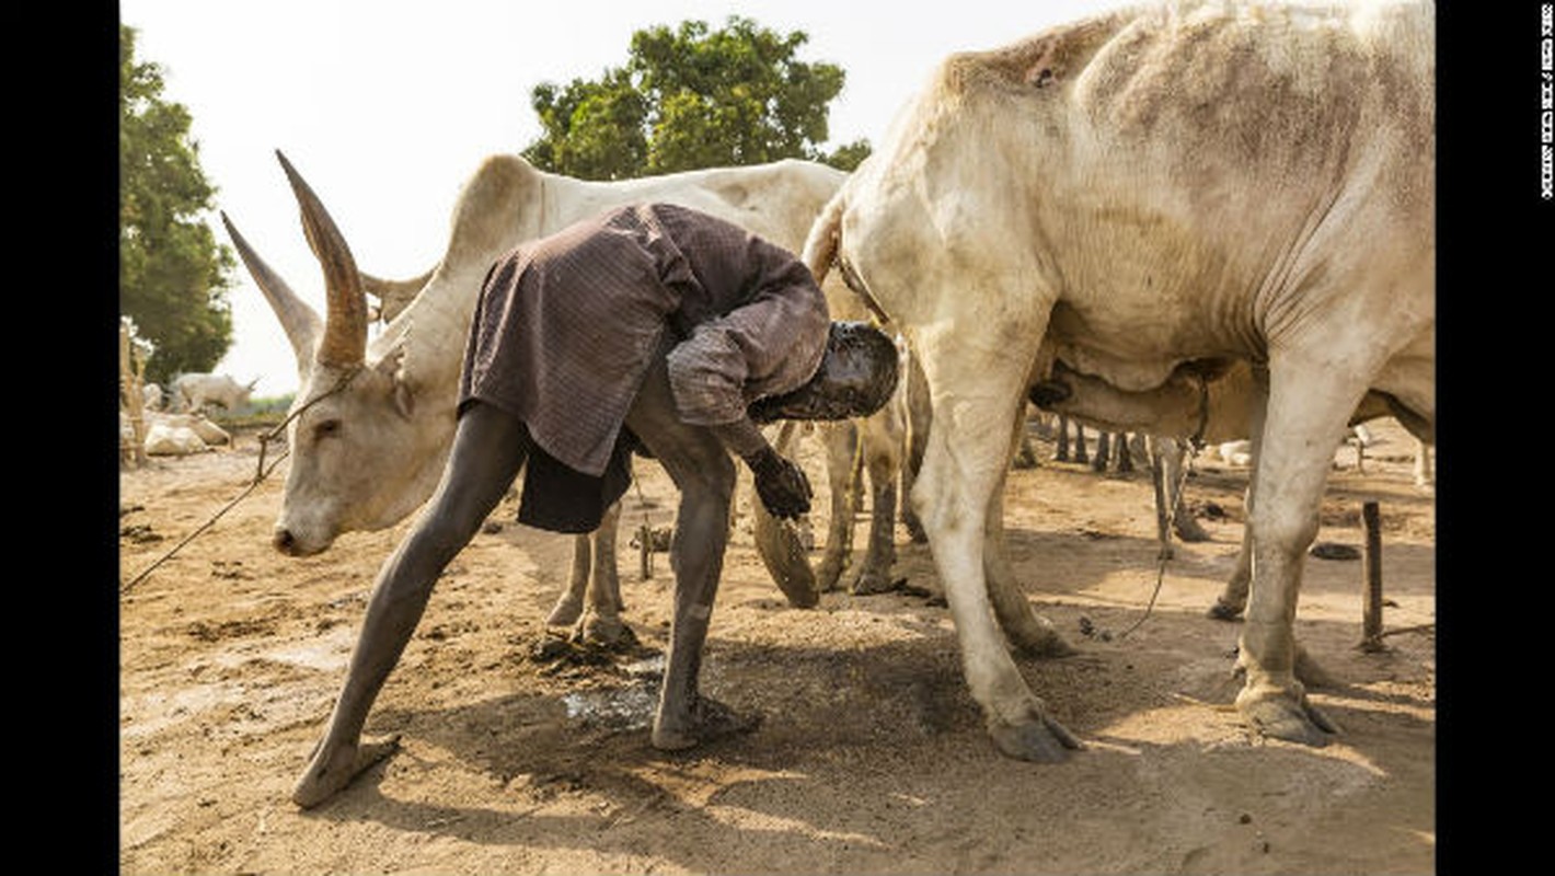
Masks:
[[[285,327],[302,378],[289,426],[291,471],[274,535],[275,546],[294,555],[323,551],[344,532],[392,526],[431,496],[453,440],[465,333],[480,282],[499,255],[606,207],[642,201],[695,207],[798,251],[821,207],[846,179],[843,171],[826,165],[784,160],[586,182],[538,171],[518,156],[491,156],[459,196],[442,261],[423,277],[387,282],[358,271],[323,207],[285,157],[281,163],[305,204],[308,240],[323,263],[327,319],[264,265],[225,215],[222,219]],[[846,288],[829,286],[833,319],[868,316]],[[372,344],[367,344],[364,296],[369,289],[381,294],[384,313],[393,314]],[[409,294],[412,289],[417,291]],[[843,461],[833,470],[846,471],[851,461],[846,437],[827,445]],[[847,541],[835,532],[852,524],[851,499],[851,490],[833,490],[827,557],[846,548]],[[838,503],[846,504],[840,509]],[[756,512],[760,515],[762,509]],[[616,571],[614,552],[610,545],[603,548],[592,559],[596,576],[608,577],[599,605],[610,604]],[[586,545],[580,549],[578,566],[586,571],[591,565]],[[840,565],[823,560],[823,587],[830,583],[826,569]],[[782,574],[812,573],[807,565],[790,565]],[[574,577],[574,583],[580,580]],[[580,604],[578,596],[563,594],[555,616]]]

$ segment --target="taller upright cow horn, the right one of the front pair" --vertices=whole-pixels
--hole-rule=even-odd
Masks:
[[[291,180],[297,205],[302,208],[302,230],[308,237],[308,246],[323,266],[323,288],[330,308],[316,358],[325,366],[358,366],[367,358],[367,296],[356,272],[356,260],[351,258],[351,249],[345,246],[341,229],[334,226],[319,196],[280,149],[275,151],[275,157],[286,170],[286,179]]]

